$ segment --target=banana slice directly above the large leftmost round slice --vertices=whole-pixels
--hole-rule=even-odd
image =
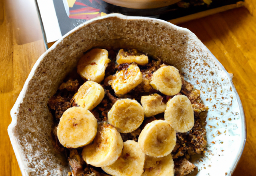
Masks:
[[[95,108],[104,98],[102,86],[96,82],[86,81],[74,96],[74,102],[86,110]]]

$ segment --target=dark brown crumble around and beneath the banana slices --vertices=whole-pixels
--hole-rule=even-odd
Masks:
[[[132,50],[132,52],[134,52],[134,50]],[[115,61],[118,50],[108,50],[108,53],[111,62],[109,62],[108,66],[106,67],[104,80],[99,83],[104,88],[105,96],[95,108],[90,110],[90,112],[94,115],[98,122],[107,122],[108,112],[120,99],[129,98],[140,103],[142,96],[158,94],[162,97],[162,102],[166,104],[168,100],[174,96],[185,95],[190,100],[194,110],[194,126],[188,132],[176,133],[176,145],[171,154],[174,160],[175,176],[196,174],[198,172],[198,168],[189,162],[190,156],[194,154],[204,154],[207,145],[205,126],[208,107],[204,106],[200,98],[200,90],[195,89],[192,84],[184,80],[184,76],[182,74],[180,74],[182,86],[178,94],[167,96],[154,89],[150,85],[154,72],[156,72],[156,70],[162,66],[167,65],[164,65],[161,60],[153,60],[152,58],[148,57],[147,64],[138,65],[138,68],[142,74],[142,80],[138,86],[126,94],[115,94],[111,85],[113,75],[116,74],[117,71],[125,69],[127,70],[132,63],[122,63],[117,65]],[[128,56],[130,55],[129,50],[126,51],[126,53],[128,53],[126,54]],[[54,138],[53,144],[57,151],[66,153],[70,167],[72,168],[71,174],[73,176],[104,176],[107,174],[101,168],[86,164],[82,158],[82,148],[64,148],[60,144],[57,137],[57,126],[60,122],[60,118],[68,108],[78,106],[73,97],[83,84],[84,80],[82,80],[79,74],[77,74],[75,69],[68,74],[68,76],[66,76],[56,94],[50,98],[48,107],[54,118],[54,126],[52,128]],[[138,137],[140,136],[140,133],[144,127],[154,120],[164,120],[164,113],[156,114],[147,118],[145,117],[142,124],[136,130],[129,133],[120,133],[123,142],[129,140],[138,142]]]

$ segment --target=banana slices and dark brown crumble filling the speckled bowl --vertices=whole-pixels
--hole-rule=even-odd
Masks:
[[[73,176],[196,174],[189,158],[206,148],[200,91],[135,49],[88,51],[48,106]]]

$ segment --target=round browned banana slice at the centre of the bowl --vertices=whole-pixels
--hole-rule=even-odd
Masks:
[[[144,120],[142,106],[131,99],[120,99],[115,102],[108,112],[108,122],[121,133],[136,130]]]

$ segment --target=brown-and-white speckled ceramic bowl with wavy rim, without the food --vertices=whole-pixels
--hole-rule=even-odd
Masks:
[[[136,48],[176,67],[200,90],[206,118],[207,148],[190,158],[198,176],[231,175],[246,140],[240,98],[224,67],[188,29],[163,20],[109,14],[88,20],[58,40],[36,62],[14,107],[8,134],[23,176],[66,176],[64,154],[52,140],[48,100],[81,56],[91,48]]]

